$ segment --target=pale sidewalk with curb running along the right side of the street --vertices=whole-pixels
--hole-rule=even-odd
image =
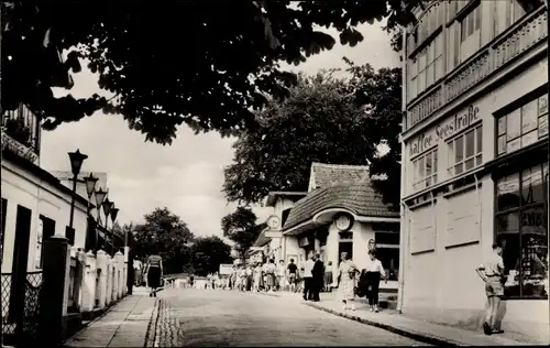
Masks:
[[[528,342],[507,338],[505,335],[486,336],[452,326],[444,326],[428,322],[417,320],[395,311],[373,313],[367,311],[367,305],[358,304],[356,311],[343,311],[342,304],[336,300],[321,302],[302,302],[314,308],[336,314],[363,324],[376,326],[388,331],[406,336],[419,341],[438,346],[521,346]]]

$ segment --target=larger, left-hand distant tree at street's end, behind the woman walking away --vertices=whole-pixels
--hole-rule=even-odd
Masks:
[[[134,229],[136,258],[144,259],[151,253],[163,258],[164,273],[180,273],[190,263],[190,246],[194,235],[187,224],[172,214],[168,208],[155,208],[144,216],[145,224]]]

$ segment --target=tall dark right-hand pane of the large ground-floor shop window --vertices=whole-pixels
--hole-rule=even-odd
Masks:
[[[544,207],[521,213],[521,275],[525,297],[546,297],[543,280],[548,269],[548,235],[544,224]]]

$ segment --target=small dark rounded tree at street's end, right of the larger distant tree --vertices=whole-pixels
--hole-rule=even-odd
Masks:
[[[222,263],[231,263],[231,247],[217,236],[196,238],[193,247],[193,269],[197,275],[216,273]]]

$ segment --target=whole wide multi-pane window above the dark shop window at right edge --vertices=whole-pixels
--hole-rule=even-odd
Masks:
[[[544,137],[548,137],[548,95],[498,118],[497,155],[528,146]]]

